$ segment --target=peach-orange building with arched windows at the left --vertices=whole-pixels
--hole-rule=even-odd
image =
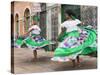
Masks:
[[[11,3],[11,26],[13,36],[21,36],[28,31],[28,28],[32,24],[32,18],[38,11],[38,3],[32,2],[18,2]],[[37,9],[35,9],[37,7]]]

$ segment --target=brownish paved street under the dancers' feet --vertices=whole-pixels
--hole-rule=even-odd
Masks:
[[[78,69],[96,69],[97,59],[95,57],[81,56],[80,67],[72,67],[69,62],[53,62],[50,58],[53,57],[53,52],[45,52],[38,50],[38,60],[33,59],[32,50],[28,48],[14,49],[14,69],[16,74],[36,73],[36,72],[53,72],[53,71],[68,71]]]

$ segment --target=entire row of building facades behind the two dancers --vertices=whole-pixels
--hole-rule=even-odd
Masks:
[[[76,18],[97,29],[97,7],[53,3],[18,2],[11,3],[12,36],[24,35],[32,22],[34,15],[39,17],[38,25],[41,35],[47,40],[56,41],[61,31],[61,23],[65,21],[65,10],[71,9]],[[54,50],[57,44],[50,46]]]

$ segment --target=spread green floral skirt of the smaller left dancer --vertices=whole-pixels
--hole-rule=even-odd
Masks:
[[[32,37],[28,36],[25,38],[19,37],[15,41],[16,47],[21,47],[23,44],[26,44],[28,48],[31,48],[32,50],[36,50],[38,48],[46,47],[47,45],[54,44],[50,40],[45,40],[40,35],[32,35]],[[49,49],[48,49],[49,50]]]

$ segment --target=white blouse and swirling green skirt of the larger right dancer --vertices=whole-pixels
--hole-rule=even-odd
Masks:
[[[62,27],[66,31],[58,36],[60,44],[54,51],[53,61],[66,62],[76,59],[79,54],[89,54],[96,51],[96,47],[91,45],[96,41],[96,31],[90,28],[79,28],[77,25],[81,21],[78,19],[65,21]]]

